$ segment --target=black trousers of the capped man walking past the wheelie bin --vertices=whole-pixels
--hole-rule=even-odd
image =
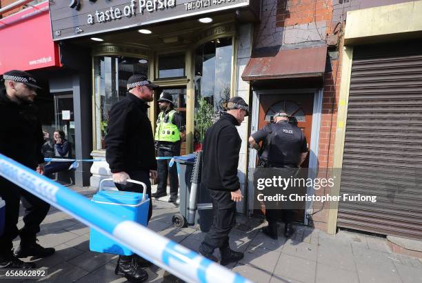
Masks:
[[[214,220],[210,231],[205,235],[203,244],[212,253],[214,248],[228,246],[229,233],[236,224],[236,202],[232,201],[230,191],[210,190]]]

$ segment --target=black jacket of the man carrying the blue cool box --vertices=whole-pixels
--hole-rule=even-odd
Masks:
[[[130,92],[112,106],[106,135],[106,160],[112,173],[157,170],[148,108]]]

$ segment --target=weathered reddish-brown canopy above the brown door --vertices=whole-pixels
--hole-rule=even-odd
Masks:
[[[267,52],[268,53],[268,52]],[[242,74],[244,81],[323,77],[327,47],[279,50],[253,55]]]

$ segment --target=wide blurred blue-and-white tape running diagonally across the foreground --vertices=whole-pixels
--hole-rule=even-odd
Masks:
[[[0,175],[187,282],[250,280],[0,154]]]

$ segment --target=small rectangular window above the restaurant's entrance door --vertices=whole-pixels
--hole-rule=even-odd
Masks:
[[[159,55],[159,79],[185,77],[185,55]]]

